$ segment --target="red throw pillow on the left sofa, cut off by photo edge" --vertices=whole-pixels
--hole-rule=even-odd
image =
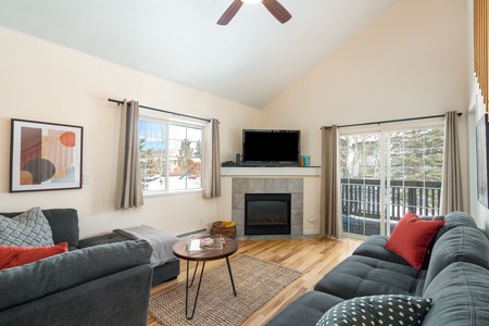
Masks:
[[[41,247],[0,246],[0,269],[22,266],[62,252],[67,252],[67,242]]]

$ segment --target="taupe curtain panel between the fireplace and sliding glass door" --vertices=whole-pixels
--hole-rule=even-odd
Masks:
[[[343,237],[343,230],[336,125],[322,128],[321,165],[319,234],[340,240]]]

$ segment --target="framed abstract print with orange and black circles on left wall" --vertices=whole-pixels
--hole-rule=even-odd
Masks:
[[[11,120],[10,192],[80,189],[82,126]]]

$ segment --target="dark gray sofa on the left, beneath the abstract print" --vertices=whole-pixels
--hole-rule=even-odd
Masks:
[[[42,213],[68,252],[0,269],[0,325],[147,325],[152,284],[175,278],[179,261],[153,268],[148,241],[115,233],[79,240],[76,210]]]

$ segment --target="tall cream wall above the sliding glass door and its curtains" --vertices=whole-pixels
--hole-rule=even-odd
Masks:
[[[465,121],[472,70],[467,29],[472,27],[466,4],[401,0],[267,105],[263,126],[301,129],[302,152],[311,155],[312,165],[321,165],[323,125],[456,110],[464,113],[459,126],[464,179],[468,179]],[[468,183],[463,186],[468,189]]]

